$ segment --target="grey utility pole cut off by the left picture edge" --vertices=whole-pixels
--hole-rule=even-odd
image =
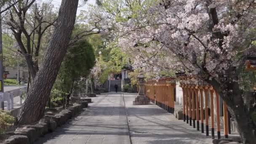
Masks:
[[[1,5],[0,5],[1,11]],[[2,41],[2,17],[0,13],[0,104],[1,108],[4,109],[4,101],[3,101],[3,41]]]

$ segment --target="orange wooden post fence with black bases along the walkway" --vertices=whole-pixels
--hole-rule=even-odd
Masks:
[[[216,125],[217,137],[220,139],[220,119],[223,118],[224,137],[227,138],[228,133],[230,133],[227,105],[225,102],[220,105],[219,94],[211,85],[191,77],[179,77],[179,82],[179,87],[182,88],[183,93],[182,106],[184,122],[193,126],[193,128],[197,128],[197,131],[200,131],[201,127],[201,132],[206,133],[206,136],[209,136],[209,127],[211,127],[212,139],[215,138],[214,131]],[[172,77],[149,80],[145,85],[146,96],[150,101],[172,114],[175,111],[176,105],[175,88],[176,80]],[[223,110],[223,117],[220,116],[220,109]]]

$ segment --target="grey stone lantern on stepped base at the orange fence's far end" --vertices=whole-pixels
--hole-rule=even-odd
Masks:
[[[146,81],[144,75],[138,75],[138,84],[139,84],[139,93],[136,96],[135,100],[133,101],[133,105],[146,105],[150,104],[150,101],[147,96],[145,96],[145,84]]]

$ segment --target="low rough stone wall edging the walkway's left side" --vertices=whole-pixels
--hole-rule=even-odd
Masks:
[[[35,125],[24,125],[22,128],[17,128],[14,133],[9,133],[11,136],[2,144],[33,144],[41,136],[54,131],[58,126],[64,125],[67,120],[83,111],[85,107],[88,107],[87,101],[68,107],[56,115],[46,114]]]

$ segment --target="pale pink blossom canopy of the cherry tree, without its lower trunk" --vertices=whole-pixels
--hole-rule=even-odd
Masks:
[[[256,20],[252,1],[164,1],[155,0],[149,8],[137,11],[137,17],[116,24],[115,35],[123,51],[133,56],[133,67],[156,74],[179,68],[218,78],[237,66],[237,53],[245,49],[238,48],[241,36],[250,29],[241,24]]]

